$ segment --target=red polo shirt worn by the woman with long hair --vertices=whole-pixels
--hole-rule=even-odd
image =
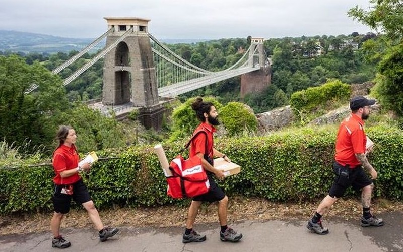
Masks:
[[[53,178],[55,184],[72,184],[80,180],[78,173],[69,177],[61,177],[60,172],[77,168],[79,164],[79,154],[74,145],[68,147],[61,145],[53,153],[53,169],[56,176]]]

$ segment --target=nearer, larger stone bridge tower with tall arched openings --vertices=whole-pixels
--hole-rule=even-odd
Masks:
[[[105,54],[103,69],[104,105],[132,102],[145,107],[158,104],[158,88],[153,52],[148,35],[149,19],[106,17],[108,30],[106,48],[123,36],[124,39]]]

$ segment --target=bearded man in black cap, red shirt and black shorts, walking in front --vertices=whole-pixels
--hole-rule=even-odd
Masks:
[[[367,138],[364,132],[364,120],[369,116],[369,106],[375,100],[368,100],[363,96],[354,97],[350,101],[351,114],[340,124],[336,140],[333,171],[336,174],[330,187],[329,194],[320,202],[315,215],[308,221],[306,227],[317,233],[327,234],[329,230],[322,225],[322,215],[343,196],[351,185],[355,190],[361,190],[363,217],[361,226],[382,226],[382,219],[371,214],[369,207],[374,184],[365,174],[363,167],[371,174],[372,179],[378,176],[376,170],[368,162],[365,153]]]

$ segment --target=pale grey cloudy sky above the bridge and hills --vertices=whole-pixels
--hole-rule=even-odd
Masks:
[[[159,39],[300,37],[366,33],[347,16],[369,0],[2,0],[0,30],[95,38],[106,31],[103,17],[151,19]]]

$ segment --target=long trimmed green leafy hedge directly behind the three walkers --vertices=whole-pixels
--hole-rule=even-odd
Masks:
[[[304,201],[324,197],[332,182],[337,127],[303,128],[266,137],[223,138],[217,149],[242,172],[219,182],[228,195],[256,196],[273,201]],[[376,143],[370,162],[378,171],[375,195],[403,198],[403,134],[388,127],[367,130]],[[182,142],[164,144],[168,158]],[[98,207],[112,204],[155,206],[175,202],[166,196],[166,181],[152,146],[99,152],[85,180]],[[0,212],[51,209],[51,166],[0,170]]]

